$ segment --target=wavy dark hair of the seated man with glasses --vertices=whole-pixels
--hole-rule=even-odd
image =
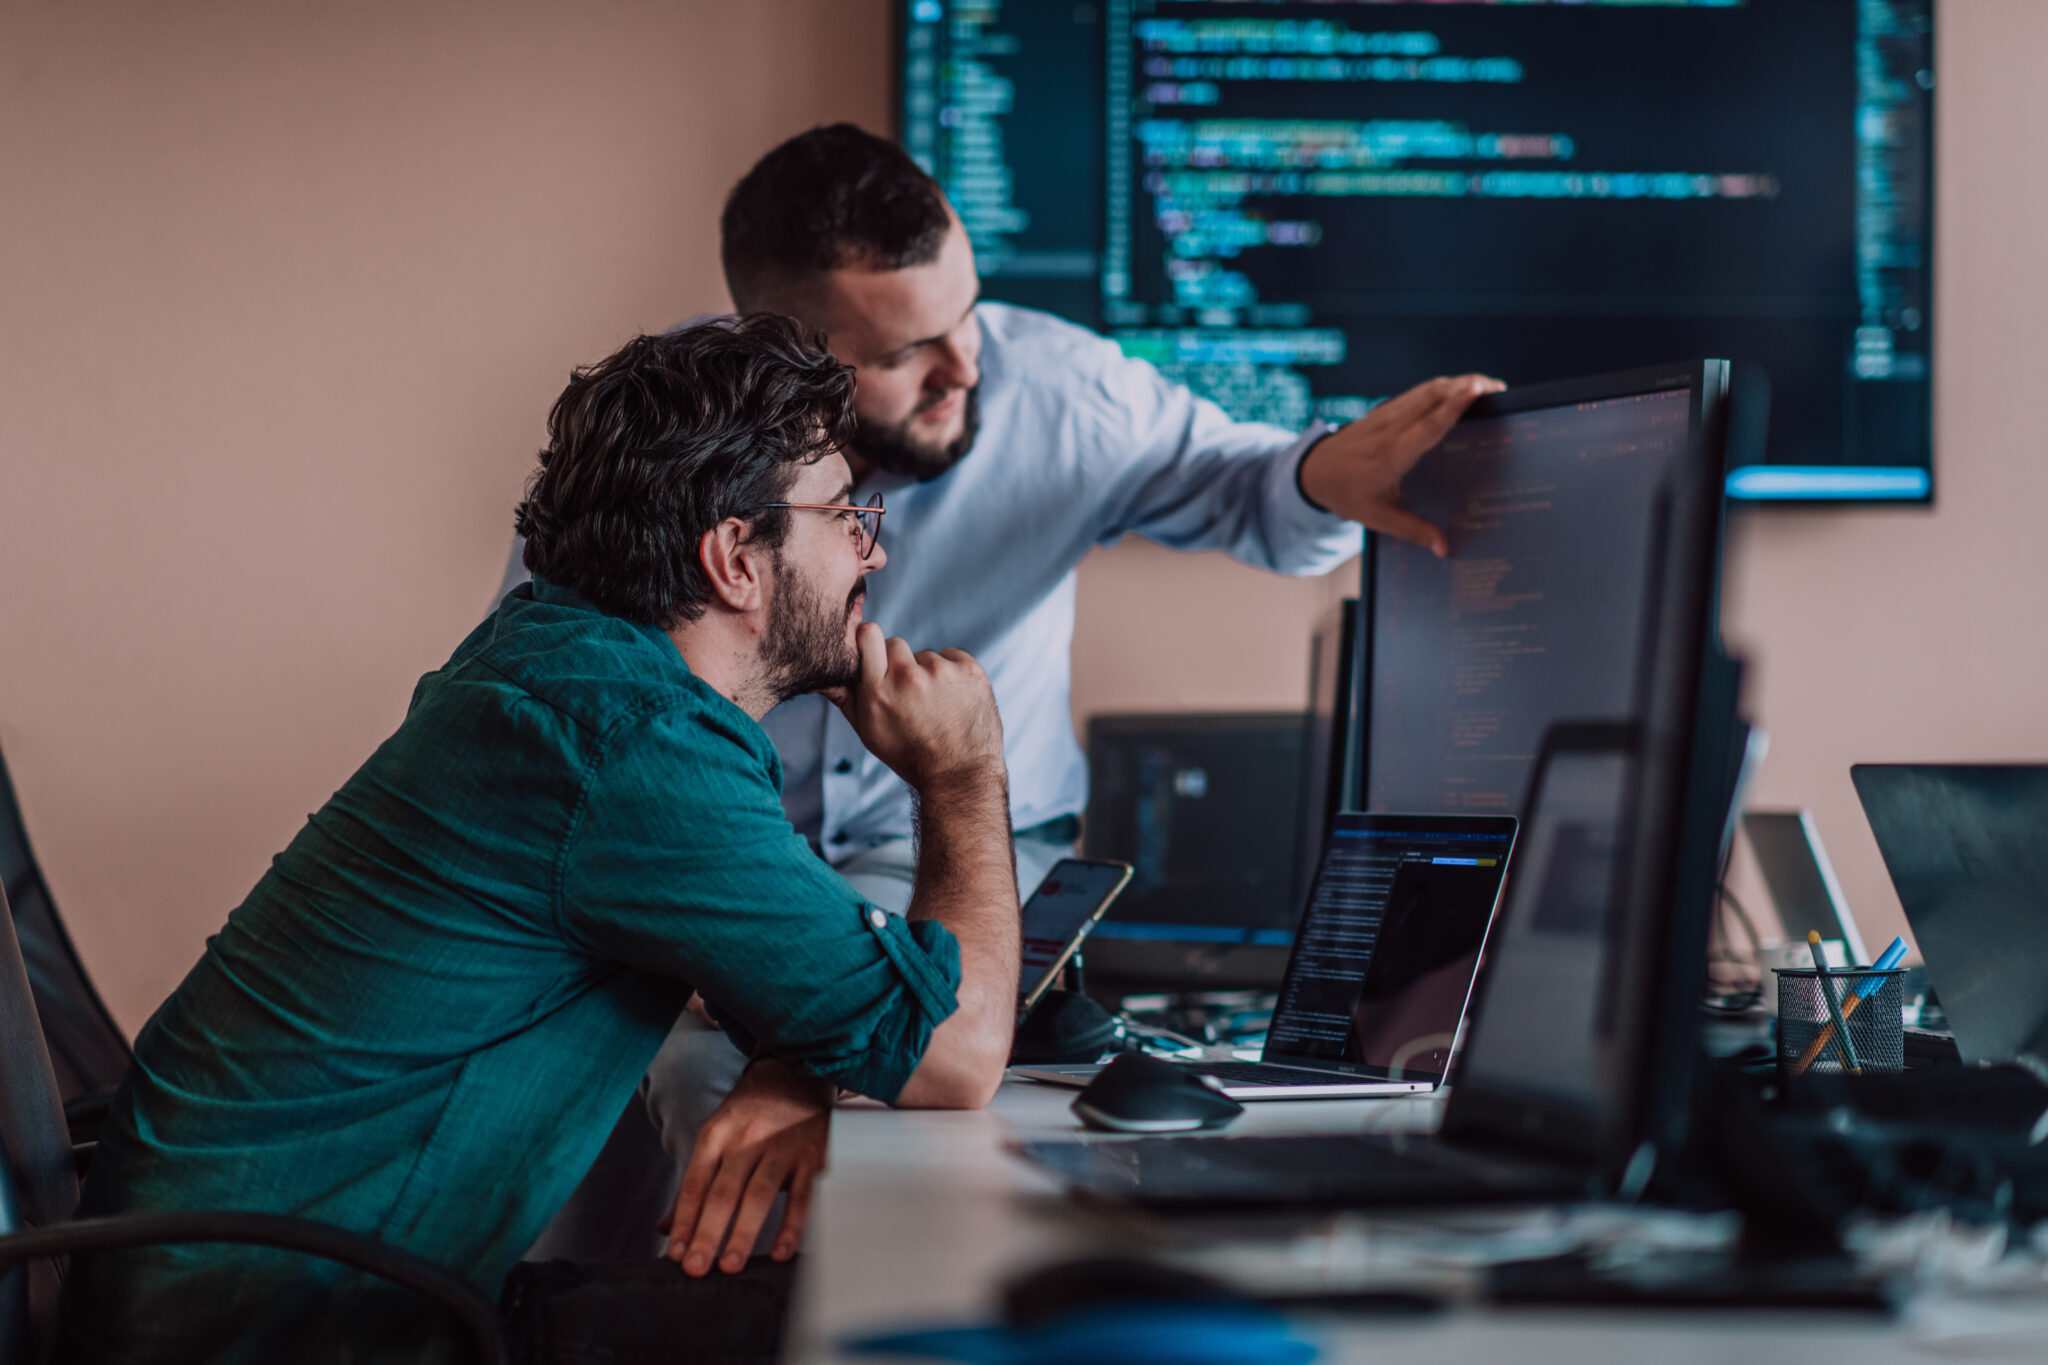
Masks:
[[[803,465],[854,428],[854,372],[770,313],[637,336],[569,377],[518,505],[526,567],[641,624],[696,620],[696,548],[729,516],[768,548]]]

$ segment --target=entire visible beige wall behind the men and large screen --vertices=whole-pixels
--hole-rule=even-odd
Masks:
[[[139,1025],[475,622],[571,364],[725,305],[717,203],[778,137],[887,121],[883,0],[0,8],[0,745]],[[1845,767],[2048,753],[2048,6],[1942,33],[1935,512],[1772,514],[1731,616],[1851,898]],[[1083,569],[1081,712],[1292,706],[1294,583]]]

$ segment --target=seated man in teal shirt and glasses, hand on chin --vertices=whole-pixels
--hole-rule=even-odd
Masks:
[[[84,1216],[299,1214],[496,1293],[694,988],[754,1058],[750,1119],[686,1175],[684,1267],[631,1289],[688,1324],[659,1359],[772,1357],[774,1267],[692,1275],[741,1271],[778,1193],[772,1259],[795,1252],[831,1087],[987,1103],[1018,980],[995,702],[965,653],[862,622],[887,557],[850,424],[850,370],[778,317],[573,377],[518,510],[532,583],[420,679],[141,1031]],[[909,919],[782,814],[760,718],[805,692],[918,792]],[[328,1263],[184,1246],[80,1259],[66,1359],[442,1359],[449,1330]]]

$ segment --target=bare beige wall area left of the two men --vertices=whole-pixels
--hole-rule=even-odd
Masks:
[[[139,1025],[487,608],[569,366],[725,307],[883,0],[0,10],[0,745]]]

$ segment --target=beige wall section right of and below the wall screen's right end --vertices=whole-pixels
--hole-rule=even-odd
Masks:
[[[2048,761],[2048,4],[1937,8],[1937,505],[1753,514],[1726,600],[1772,735],[1755,802],[1812,808],[1872,952],[1905,917],[1849,763]]]

